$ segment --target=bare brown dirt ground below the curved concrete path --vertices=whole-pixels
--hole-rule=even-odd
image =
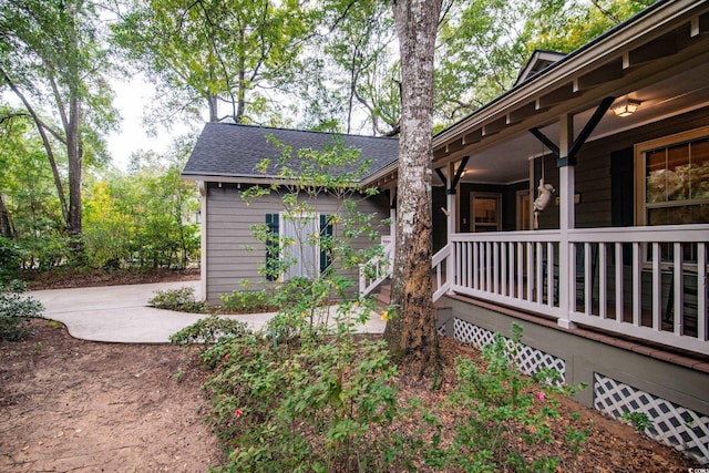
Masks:
[[[0,342],[0,471],[204,472],[223,462],[204,425],[195,352],[96,343],[33,320]]]

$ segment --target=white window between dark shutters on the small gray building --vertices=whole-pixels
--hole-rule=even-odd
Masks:
[[[320,245],[332,237],[330,215],[286,217],[284,213],[266,214],[266,226],[271,235],[266,244],[267,280],[289,280],[296,277],[314,278],[325,271],[332,258],[330,245]],[[288,261],[288,267],[281,267]]]

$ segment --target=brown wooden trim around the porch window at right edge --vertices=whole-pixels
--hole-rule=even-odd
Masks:
[[[691,142],[700,138],[709,137],[709,125],[699,128],[688,130],[672,135],[661,136],[643,143],[637,143],[635,148],[635,225],[644,226],[647,224],[647,176],[646,172],[646,153],[672,145],[679,145],[685,142]],[[691,204],[687,200],[676,200],[656,207],[679,207],[685,205],[709,203],[709,198],[692,199]],[[653,208],[653,206],[650,206]]]

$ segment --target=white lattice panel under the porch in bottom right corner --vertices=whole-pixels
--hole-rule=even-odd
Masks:
[[[709,464],[709,417],[599,373],[594,373],[594,407],[615,419],[644,413],[651,422],[645,433]]]

